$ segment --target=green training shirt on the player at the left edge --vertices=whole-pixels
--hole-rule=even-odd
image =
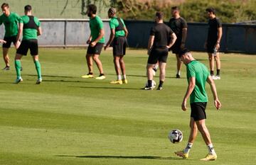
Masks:
[[[4,23],[5,34],[4,37],[11,37],[18,34],[18,23],[20,23],[21,17],[17,13],[11,12],[9,16],[0,16],[0,25]]]

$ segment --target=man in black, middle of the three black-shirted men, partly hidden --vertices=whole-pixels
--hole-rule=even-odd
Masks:
[[[188,25],[185,19],[180,16],[180,11],[177,6],[174,6],[171,8],[171,15],[173,17],[170,19],[168,25],[171,28],[171,30],[173,30],[174,33],[176,34],[177,40],[170,50],[172,50],[172,52],[176,54],[176,59],[177,59],[176,78],[180,78],[182,62],[181,62],[181,59],[178,57],[178,52],[180,52],[181,49],[185,47]]]

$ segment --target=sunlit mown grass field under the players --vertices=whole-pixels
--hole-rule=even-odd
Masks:
[[[193,53],[208,67],[206,53]],[[0,72],[0,164],[255,164],[256,56],[221,55],[221,79],[215,81],[223,108],[213,107],[207,86],[208,129],[217,161],[201,162],[208,150],[201,135],[188,159],[174,151],[188,140],[190,110],[181,110],[186,91],[175,79],[176,59],[169,55],[162,91],[141,90],[146,83],[146,50],[128,50],[125,57],[129,84],[116,79],[112,52],[101,55],[107,79],[81,79],[87,74],[85,50],[41,49],[43,83],[36,85],[30,55],[22,59],[21,84],[11,70]],[[4,62],[0,60],[0,66]],[[98,74],[95,67],[95,74]],[[158,82],[157,77],[155,78]],[[170,130],[183,132],[183,142],[171,144]]]

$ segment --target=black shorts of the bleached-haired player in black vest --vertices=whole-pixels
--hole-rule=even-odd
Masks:
[[[126,37],[114,38],[112,42],[113,55],[114,56],[125,55],[126,46],[127,46]]]

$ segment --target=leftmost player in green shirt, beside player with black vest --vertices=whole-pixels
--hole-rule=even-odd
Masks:
[[[18,47],[20,42],[16,42],[17,34],[18,34],[18,25],[21,21],[21,17],[18,16],[17,13],[11,12],[9,8],[9,4],[2,4],[1,9],[3,14],[0,16],[0,25],[4,23],[5,35],[4,40],[6,43],[3,44],[3,57],[6,67],[3,70],[10,69],[10,59],[8,55],[9,47],[11,47],[11,42],[14,43],[15,47]],[[17,43],[17,44],[16,44]]]

